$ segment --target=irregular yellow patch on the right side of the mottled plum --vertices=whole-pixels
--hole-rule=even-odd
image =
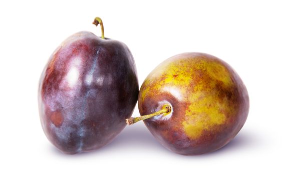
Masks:
[[[205,72],[210,79],[191,82],[194,83],[194,88],[188,96],[190,104],[185,111],[182,125],[185,133],[192,139],[200,137],[203,130],[210,130],[215,125],[223,124],[227,115],[235,111],[226,97],[220,99],[220,89],[215,88],[218,83],[222,83],[224,87],[232,85],[226,68],[218,62],[205,60],[194,64],[194,68]]]

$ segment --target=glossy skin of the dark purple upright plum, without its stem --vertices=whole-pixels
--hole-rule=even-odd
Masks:
[[[126,126],[138,98],[128,47],[81,31],[51,55],[40,78],[39,111],[48,139],[62,152],[100,148]]]

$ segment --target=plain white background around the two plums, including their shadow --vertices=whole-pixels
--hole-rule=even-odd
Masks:
[[[106,37],[129,46],[140,85],[156,65],[181,52],[206,52],[228,62],[250,98],[238,135],[218,151],[183,156],[161,146],[140,122],[92,152],[67,155],[55,148],[40,124],[40,74],[69,35],[101,35],[92,24],[96,16]],[[282,0],[10,0],[0,2],[0,19],[0,174],[285,174]]]

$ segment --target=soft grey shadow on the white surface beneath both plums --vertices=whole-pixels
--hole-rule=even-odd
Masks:
[[[256,139],[255,139],[256,138]],[[160,151],[162,153],[168,153],[172,156],[180,156],[185,158],[198,158],[198,157],[205,157],[205,156],[219,156],[224,153],[231,153],[237,151],[241,151],[241,149],[244,149],[245,147],[251,146],[251,145],[257,145],[259,140],[257,139],[257,136],[253,135],[252,133],[246,133],[246,132],[239,132],[228,144],[223,146],[222,148],[213,151],[208,152],[201,155],[180,155],[177,153],[174,153],[168,149],[166,149],[164,146],[162,146],[149,132],[147,128],[145,128],[145,125],[142,123],[139,125],[131,125],[126,126],[126,128],[108,145],[96,149],[89,152],[82,152],[74,155],[65,154],[62,153],[59,149],[57,149],[55,146],[50,144],[50,147],[53,149],[53,152],[62,155],[62,156],[88,156],[88,155],[94,155],[96,153],[99,153],[101,151],[118,151],[118,148],[126,148],[126,147],[136,147],[138,151],[144,151],[147,149],[151,149],[152,151],[158,152],[160,154]]]

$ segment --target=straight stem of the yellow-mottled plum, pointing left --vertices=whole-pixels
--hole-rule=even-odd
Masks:
[[[130,117],[130,118],[126,118],[125,121],[128,125],[130,124],[134,124],[140,120],[144,120],[144,119],[147,119],[147,118],[151,118],[153,116],[156,116],[156,115],[160,115],[160,114],[163,114],[163,113],[166,113],[168,114],[169,112],[171,112],[172,108],[169,104],[164,104],[162,106],[162,109],[157,111],[157,112],[154,112],[154,113],[151,113],[151,114],[148,114],[148,115],[142,115],[142,116],[139,116],[139,117]]]

